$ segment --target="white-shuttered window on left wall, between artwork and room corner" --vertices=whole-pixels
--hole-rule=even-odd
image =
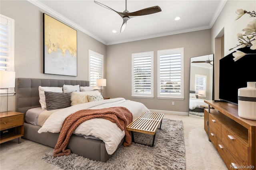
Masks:
[[[96,86],[96,79],[103,79],[103,55],[89,50],[90,86]]]

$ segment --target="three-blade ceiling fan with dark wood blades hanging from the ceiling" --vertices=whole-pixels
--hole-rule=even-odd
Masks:
[[[149,8],[144,8],[142,10],[138,10],[136,12],[129,12],[127,10],[127,0],[125,0],[125,10],[124,12],[118,12],[118,11],[115,11],[113,10],[112,8],[109,8],[108,6],[104,5],[104,4],[101,4],[100,2],[97,2],[97,1],[94,1],[96,4],[104,7],[104,8],[107,8],[109,10],[112,10],[114,12],[116,12],[118,15],[120,15],[123,19],[123,24],[121,26],[121,30],[120,32],[123,32],[126,28],[126,22],[131,19],[131,18],[134,18],[136,16],[142,16],[142,15],[148,15],[148,14],[154,14],[154,13],[157,13],[157,12],[161,12],[161,8],[159,6],[152,6],[152,7],[149,7]]]

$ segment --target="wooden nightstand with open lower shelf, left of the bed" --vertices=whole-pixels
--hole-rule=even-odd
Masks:
[[[19,138],[24,135],[24,113],[8,111],[0,113],[0,143]]]

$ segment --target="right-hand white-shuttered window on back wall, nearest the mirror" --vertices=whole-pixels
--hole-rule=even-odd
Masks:
[[[158,98],[184,99],[183,48],[160,50],[158,57]]]

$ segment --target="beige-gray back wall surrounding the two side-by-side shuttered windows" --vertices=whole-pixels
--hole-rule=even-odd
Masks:
[[[157,51],[184,47],[184,100],[157,99]],[[154,51],[154,99],[132,98],[132,53]],[[107,97],[144,103],[148,109],[186,112],[189,102],[190,57],[211,53],[211,30],[201,30],[107,46]],[[175,105],[172,105],[174,101]]]

